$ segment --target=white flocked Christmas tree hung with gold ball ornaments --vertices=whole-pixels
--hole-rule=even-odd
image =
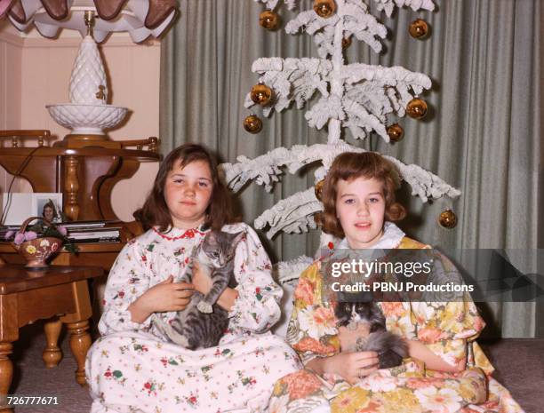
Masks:
[[[268,10],[274,10],[279,0],[255,1],[265,4]],[[395,7],[408,6],[414,11],[432,11],[435,7],[431,0],[373,1],[388,17]],[[299,1],[284,0],[284,3],[292,10]],[[315,4],[318,3],[316,0]],[[259,83],[272,91],[272,99],[263,108],[263,115],[271,115],[273,109],[281,112],[293,101],[300,109],[314,98],[305,117],[310,127],[319,130],[327,127],[327,142],[309,147],[277,147],[254,159],[239,156],[237,163],[223,163],[228,187],[234,192],[250,180],[271,191],[284,169],[294,174],[310,163],[321,163],[314,172],[315,183],[319,182],[324,179],[336,155],[346,151],[364,152],[364,149],[342,140],[342,130],[347,128],[355,139],[365,139],[370,133],[376,133],[389,142],[387,126],[391,120],[388,116],[406,115],[405,108],[409,102],[431,86],[427,75],[399,66],[384,68],[363,63],[345,64],[343,39],[355,37],[368,44],[374,52],[380,52],[380,39],[385,38],[387,29],[369,12],[364,0],[325,0],[324,3],[332,4],[333,12],[328,17],[321,17],[312,8],[301,11],[285,26],[288,34],[305,32],[313,36],[320,59],[262,58],[253,62],[252,72],[259,74]],[[318,96],[314,96],[316,94]],[[252,107],[254,104],[248,93],[244,106]],[[459,190],[420,166],[404,164],[393,156],[385,157],[396,165],[401,179],[412,187],[412,195],[418,195],[422,202],[426,203],[429,198],[460,195]],[[323,210],[323,205],[316,197],[315,188],[310,187],[265,210],[255,219],[254,226],[268,228],[268,238],[278,232],[300,234],[316,228],[313,216],[320,210]],[[320,245],[324,246],[329,241],[330,237],[322,234]],[[312,259],[300,257],[278,263],[279,280],[285,282],[296,277]]]

